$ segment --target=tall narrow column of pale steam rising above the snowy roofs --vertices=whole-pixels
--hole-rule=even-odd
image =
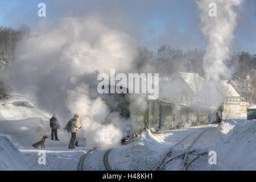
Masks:
[[[217,17],[208,15],[210,3],[216,4]],[[213,98],[212,101],[215,102],[213,105],[220,104],[222,101],[220,95],[217,96],[216,94],[216,85],[220,78],[229,79],[232,76],[231,70],[226,66],[225,61],[230,57],[230,44],[237,26],[237,14],[233,6],[238,6],[241,3],[242,0],[197,1],[201,19],[201,31],[207,40],[207,47],[203,57],[203,69],[210,98]]]

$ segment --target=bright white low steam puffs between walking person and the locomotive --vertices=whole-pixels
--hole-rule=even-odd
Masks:
[[[72,113],[79,111],[82,115],[82,138],[88,147],[112,148],[120,143],[130,129],[129,122],[119,117],[119,113],[110,113],[101,97],[92,100],[88,85],[82,84],[68,91],[66,102]]]

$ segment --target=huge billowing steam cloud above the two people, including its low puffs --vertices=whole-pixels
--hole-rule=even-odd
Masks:
[[[79,113],[86,146],[113,147],[129,126],[119,113],[110,113],[90,86],[97,85],[100,72],[130,69],[136,49],[131,36],[108,27],[99,16],[68,17],[20,43],[10,78],[20,93],[57,113],[63,127]]]

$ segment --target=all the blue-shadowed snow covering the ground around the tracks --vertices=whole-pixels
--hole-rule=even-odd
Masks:
[[[33,107],[26,104],[15,106],[13,103],[16,101],[28,102]],[[14,96],[0,101],[1,170],[77,170],[81,157],[91,148],[68,149],[69,133],[60,131],[60,141],[46,139],[46,148],[32,147],[32,143],[38,142],[44,135],[49,136],[49,117],[48,113],[24,97]],[[190,149],[195,152],[188,155],[188,161],[197,154],[216,151],[217,164],[210,165],[210,156],[204,155],[195,160],[188,170],[256,170],[256,121],[241,119],[241,115],[237,119],[236,113],[229,118],[234,119],[221,124],[184,127],[158,133],[146,130],[137,140],[113,148],[109,154],[110,167],[114,170],[152,170],[171,147],[171,158],[183,154],[201,131],[209,129]],[[183,142],[179,143],[182,139]],[[45,165],[38,163],[39,151],[46,152]],[[104,170],[103,157],[106,151],[98,149],[89,154],[83,169]],[[177,158],[163,169],[180,170],[181,162],[182,159]]]

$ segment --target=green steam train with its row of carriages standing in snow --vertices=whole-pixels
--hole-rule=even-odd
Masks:
[[[177,105],[164,100],[147,100],[139,94],[105,94],[102,99],[111,111],[118,111],[131,123],[131,135],[144,129],[158,130],[207,123],[217,109],[204,106]]]

